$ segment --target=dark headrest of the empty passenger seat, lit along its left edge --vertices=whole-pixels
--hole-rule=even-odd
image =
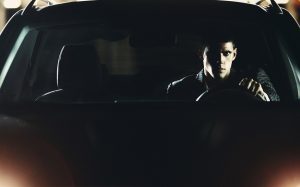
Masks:
[[[64,90],[92,90],[103,84],[103,70],[91,44],[65,45],[57,64],[57,86]]]

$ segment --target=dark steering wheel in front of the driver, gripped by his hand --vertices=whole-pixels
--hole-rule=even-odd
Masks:
[[[210,89],[202,93],[197,99],[197,102],[210,103],[239,103],[239,102],[258,102],[263,101],[249,93],[249,91],[234,87],[224,89]]]

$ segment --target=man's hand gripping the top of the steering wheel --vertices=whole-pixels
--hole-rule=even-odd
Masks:
[[[269,96],[264,92],[261,84],[253,79],[243,78],[239,86],[246,88],[250,93],[261,98],[263,101],[270,101]]]

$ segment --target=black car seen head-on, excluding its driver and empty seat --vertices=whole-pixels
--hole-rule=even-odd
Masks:
[[[166,100],[170,81],[201,68],[194,50],[202,34],[221,27],[234,28],[240,65],[265,68],[281,102]],[[96,41],[108,94],[44,99],[65,89],[57,81],[62,47]],[[298,49],[298,24],[275,4],[30,5],[0,36],[3,150],[49,186],[274,186],[290,178],[296,185]]]

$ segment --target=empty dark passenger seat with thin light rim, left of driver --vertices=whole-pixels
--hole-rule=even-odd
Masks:
[[[93,45],[65,45],[57,63],[57,89],[39,96],[39,102],[92,102],[107,96],[105,67]]]

